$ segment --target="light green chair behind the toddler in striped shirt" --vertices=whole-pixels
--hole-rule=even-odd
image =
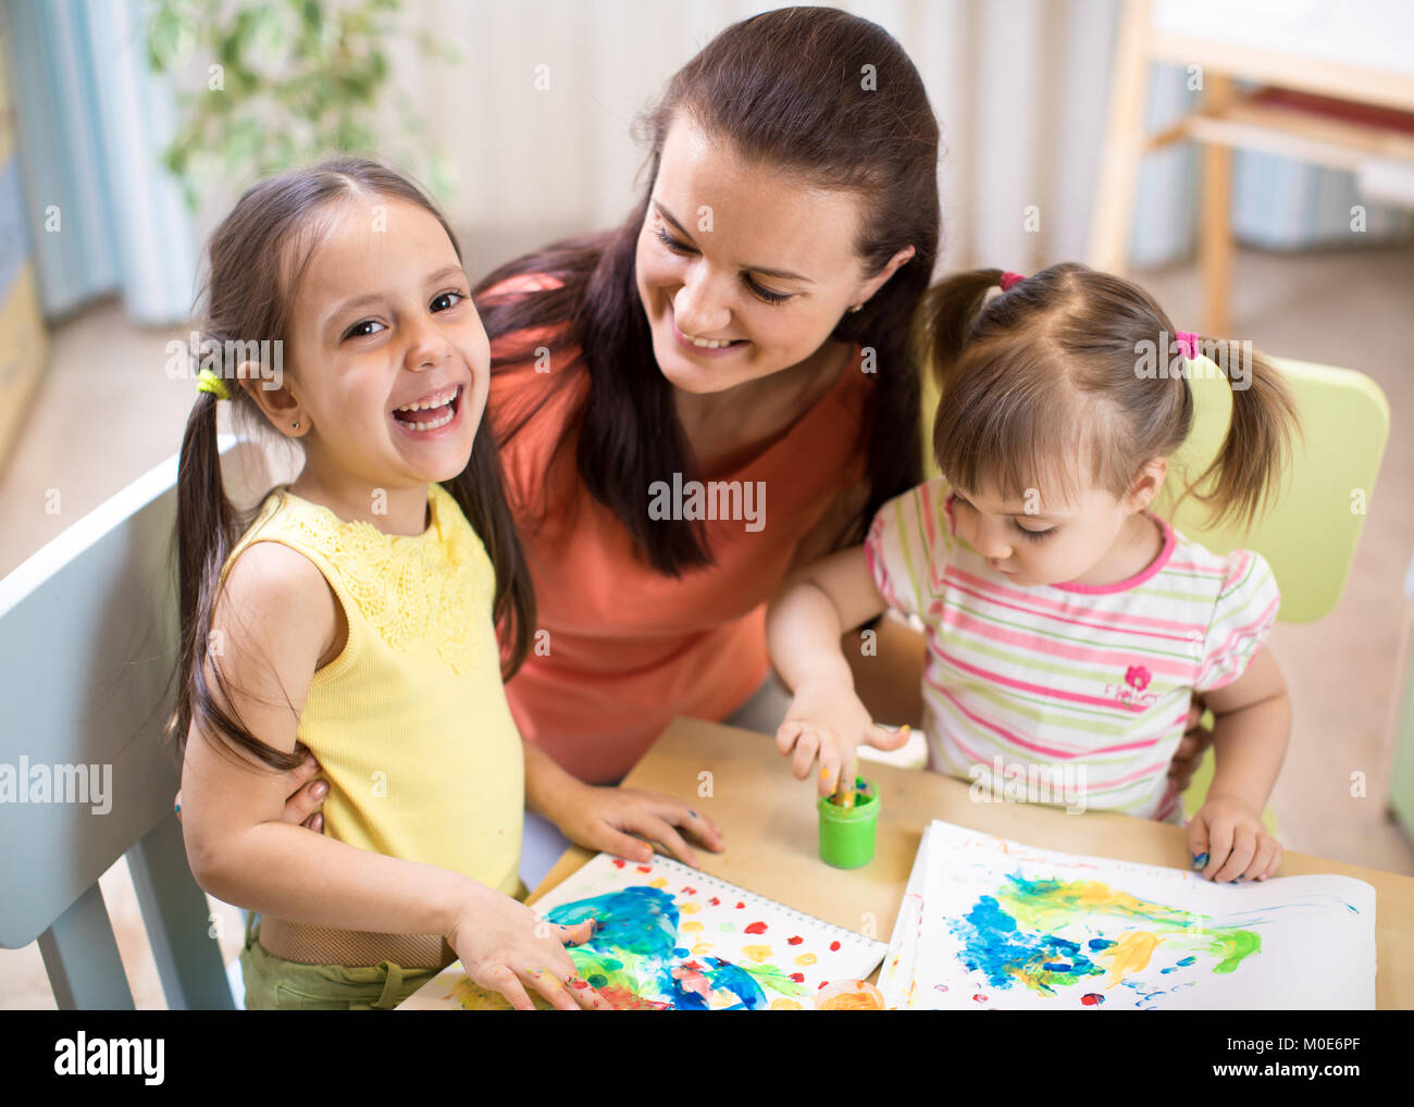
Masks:
[[[1188,484],[1217,455],[1232,417],[1232,387],[1206,358],[1195,368],[1193,430],[1182,450],[1169,459],[1169,479],[1155,510],[1175,529],[1202,541],[1215,553],[1237,547],[1256,550],[1271,564],[1281,588],[1282,622],[1314,622],[1340,598],[1345,578],[1355,560],[1355,547],[1373,502],[1374,478],[1390,434],[1390,409],[1379,386],[1353,369],[1336,369],[1274,358],[1285,375],[1301,417],[1301,434],[1294,441],[1292,462],[1271,508],[1243,533],[1234,526],[1209,527],[1208,509],[1189,496],[1174,510]],[[923,397],[925,443],[932,441],[932,418],[937,404],[929,383]],[[936,467],[929,462],[930,475]],[[1212,725],[1212,717],[1205,717]],[[1192,816],[1208,795],[1213,778],[1209,749],[1193,782],[1184,793]],[[1263,820],[1275,833],[1275,819]]]

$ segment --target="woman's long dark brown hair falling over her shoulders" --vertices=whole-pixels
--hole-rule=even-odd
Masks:
[[[833,332],[840,341],[872,348],[877,366],[863,413],[870,495],[851,532],[840,536],[841,541],[858,540],[887,499],[922,479],[922,346],[915,325],[939,236],[937,120],[913,64],[881,27],[836,8],[792,7],[717,35],[673,76],[643,120],[650,153],[642,202],[615,230],[554,243],[479,281],[474,294],[481,297],[486,332],[495,341],[567,324],[557,327],[549,349],[575,346],[588,368],[588,396],[577,427],[581,479],[659,571],[679,575],[711,564],[700,522],[656,520],[646,510],[653,481],[674,472],[690,479],[696,469],[673,406],[673,386],[653,358],[635,274],[638,235],[663,141],[679,115],[747,160],[782,167],[812,187],[858,194],[864,219],[855,249],[867,276],[878,274],[901,249],[915,249]],[[508,277],[540,273],[559,279],[560,287],[484,297]],[[530,361],[537,345],[540,336],[502,345],[492,372]],[[503,440],[537,409],[513,413],[503,423]],[[561,445],[573,430],[566,428]]]

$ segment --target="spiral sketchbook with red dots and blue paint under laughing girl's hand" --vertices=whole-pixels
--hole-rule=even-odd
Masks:
[[[881,1007],[864,978],[882,942],[748,892],[666,857],[598,854],[534,909],[553,923],[595,919],[568,947],[580,976],[614,1007],[659,1011],[797,1011]],[[455,963],[404,1008],[495,1009],[506,1002]]]

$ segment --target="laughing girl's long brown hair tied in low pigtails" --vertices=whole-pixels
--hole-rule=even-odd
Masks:
[[[329,205],[348,198],[389,198],[416,204],[443,225],[457,259],[461,246],[441,212],[417,185],[368,158],[342,157],[310,170],[271,177],[255,185],[211,236],[208,269],[201,300],[198,349],[206,342],[262,344],[284,341],[290,328],[290,305],[300,274],[320,239]],[[194,355],[197,351],[194,351]],[[246,392],[228,383],[232,404],[259,426],[264,418]],[[216,602],[221,570],[250,523],[253,512],[238,512],[226,496],[216,447],[216,397],[197,396],[182,435],[177,471],[177,573],[181,615],[181,653],[177,667],[177,705],[168,735],[185,754],[191,724],[230,746],[243,749],[274,769],[296,768],[301,755],[286,754],[250,734],[238,714],[222,707],[206,681],[208,638]],[[467,520],[481,536],[495,567],[493,619],[501,640],[508,643],[505,676],[509,677],[530,648],[534,628],[534,591],[516,534],[501,475],[491,421],[477,431],[471,462],[443,486],[457,500]],[[468,615],[469,618],[469,615]],[[221,659],[211,650],[211,667],[222,698],[233,703]]]

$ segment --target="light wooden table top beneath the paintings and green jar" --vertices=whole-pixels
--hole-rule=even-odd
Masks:
[[[1174,868],[1192,862],[1186,833],[1175,826],[1027,803],[973,803],[969,785],[950,776],[872,762],[864,762],[863,772],[878,782],[878,845],[871,864],[848,872],[830,868],[816,851],[814,780],[796,780],[765,735],[679,718],[624,785],[691,799],[721,827],[724,853],[697,850],[704,872],[882,942],[894,930],[913,854],[933,819],[1046,850]],[[701,795],[707,782],[710,796]],[[590,857],[567,850],[526,902],[534,903]],[[1374,886],[1376,1004],[1414,1008],[1414,878],[1288,850],[1280,875],[1304,872],[1335,872]]]

